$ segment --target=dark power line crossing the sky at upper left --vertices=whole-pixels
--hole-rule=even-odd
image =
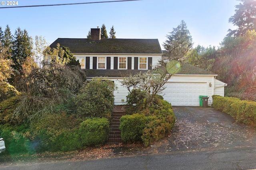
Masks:
[[[29,5],[29,6],[7,6],[7,7],[0,7],[0,8],[27,8],[27,7],[39,7],[39,6],[61,6],[61,5],[78,5],[78,4],[97,4],[97,3],[125,2],[125,1],[138,1],[138,0],[114,0],[114,1],[101,1],[101,2],[81,2],[81,3],[70,3],[70,4],[48,4],[48,5]]]

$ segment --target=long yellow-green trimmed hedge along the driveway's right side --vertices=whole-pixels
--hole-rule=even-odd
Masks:
[[[216,95],[212,99],[215,109],[231,115],[240,123],[256,126],[256,102]]]

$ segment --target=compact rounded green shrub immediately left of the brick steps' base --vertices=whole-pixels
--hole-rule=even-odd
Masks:
[[[81,147],[104,144],[108,140],[109,131],[109,121],[104,117],[83,121],[78,129]]]

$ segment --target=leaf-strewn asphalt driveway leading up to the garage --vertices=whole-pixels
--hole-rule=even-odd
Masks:
[[[173,106],[176,123],[160,152],[228,150],[256,146],[256,129],[210,107]]]

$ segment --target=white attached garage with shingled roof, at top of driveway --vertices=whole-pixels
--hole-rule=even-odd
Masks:
[[[212,104],[212,95],[224,96],[224,82],[216,79],[217,74],[201,68],[184,64],[180,71],[166,82],[162,92],[164,100],[172,106],[200,106],[199,96],[208,96],[208,105]]]

